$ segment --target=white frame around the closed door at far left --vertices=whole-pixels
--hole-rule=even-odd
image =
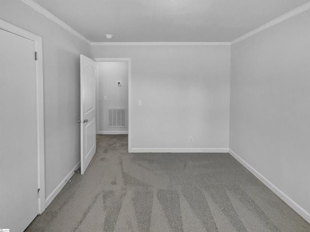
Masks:
[[[18,36],[35,42],[37,60],[35,62],[36,78],[36,107],[37,107],[37,167],[38,167],[38,188],[40,197],[38,214],[45,210],[45,165],[44,165],[44,105],[43,105],[43,49],[42,37],[21,29],[11,23],[0,19],[0,29],[6,30]],[[34,58],[34,54],[33,54]]]

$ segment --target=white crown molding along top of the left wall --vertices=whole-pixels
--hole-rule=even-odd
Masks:
[[[67,24],[62,22],[62,20],[57,18],[54,14],[51,14],[49,11],[44,9],[42,6],[40,6],[38,3],[34,2],[33,0],[21,0],[21,1],[24,2],[25,4],[31,6],[34,10],[43,14],[48,19],[52,20],[54,23],[58,24],[62,28],[66,29],[67,31],[71,32],[72,34],[74,34],[75,36],[77,36],[81,40],[85,41],[86,43],[88,43],[88,44],[92,43],[89,39],[87,39],[86,37],[84,37],[83,35],[78,33],[78,31],[76,31],[75,29],[71,28],[70,26],[68,26]]]

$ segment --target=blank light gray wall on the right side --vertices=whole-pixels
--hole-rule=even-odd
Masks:
[[[310,220],[310,11],[233,44],[231,60],[230,148]]]

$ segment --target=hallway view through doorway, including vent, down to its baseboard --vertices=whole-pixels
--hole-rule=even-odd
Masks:
[[[128,134],[128,63],[96,62],[97,134]]]

